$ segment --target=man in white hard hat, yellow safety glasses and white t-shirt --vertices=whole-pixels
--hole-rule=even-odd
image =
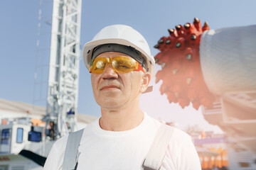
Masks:
[[[149,45],[129,26],[107,26],[85,44],[83,59],[91,72],[101,117],[82,131],[74,168],[143,169],[156,133],[161,131],[161,123],[139,108],[139,96],[155,74]],[[191,137],[172,130],[160,169],[201,169]],[[55,142],[44,169],[63,169],[67,141],[68,136],[64,136]]]

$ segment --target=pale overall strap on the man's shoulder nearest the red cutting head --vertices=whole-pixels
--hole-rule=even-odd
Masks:
[[[161,168],[173,132],[174,128],[169,125],[162,124],[160,126],[142,164],[144,170],[159,170]]]

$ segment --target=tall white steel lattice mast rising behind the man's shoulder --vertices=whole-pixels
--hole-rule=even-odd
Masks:
[[[53,0],[46,129],[51,140],[75,131],[82,0]]]

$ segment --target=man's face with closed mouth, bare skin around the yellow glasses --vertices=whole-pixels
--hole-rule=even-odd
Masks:
[[[129,57],[121,52],[104,52],[97,57],[117,56]],[[146,73],[147,76],[148,74]],[[119,73],[114,71],[111,64],[108,64],[102,74],[91,74],[95,101],[102,108],[122,108],[124,105],[129,105],[137,101],[140,93],[144,91],[143,77],[142,71]]]

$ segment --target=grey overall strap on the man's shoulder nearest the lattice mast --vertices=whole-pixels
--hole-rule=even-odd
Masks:
[[[68,135],[68,142],[63,159],[63,170],[75,169],[80,154],[78,152],[78,147],[80,145],[83,130],[84,129],[78,130]]]

